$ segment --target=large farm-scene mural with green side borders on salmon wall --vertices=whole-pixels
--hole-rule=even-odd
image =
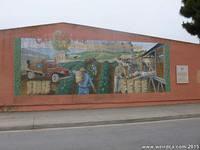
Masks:
[[[169,91],[166,45],[134,41],[20,38],[16,95],[87,95]]]

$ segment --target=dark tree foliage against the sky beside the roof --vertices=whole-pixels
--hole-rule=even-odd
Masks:
[[[183,22],[182,26],[191,35],[200,39],[200,0],[182,0],[182,3],[180,14],[191,19],[190,22]]]

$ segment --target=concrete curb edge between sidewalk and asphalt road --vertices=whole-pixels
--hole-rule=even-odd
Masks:
[[[151,117],[151,118],[135,118],[135,119],[125,119],[125,120],[89,121],[89,122],[77,122],[77,123],[58,123],[58,124],[41,124],[41,125],[33,124],[33,125],[26,125],[26,126],[22,125],[22,126],[15,126],[15,127],[0,127],[0,131],[87,127],[87,126],[98,126],[98,125],[155,122],[155,121],[189,119],[189,118],[200,118],[200,114],[186,114],[186,115]]]

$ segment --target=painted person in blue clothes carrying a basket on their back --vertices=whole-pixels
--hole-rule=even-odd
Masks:
[[[87,73],[85,68],[80,69],[80,76],[81,80],[78,83],[78,94],[79,95],[86,95],[90,93],[90,87],[96,92],[96,89],[94,87],[94,84],[92,82],[92,78],[90,75]]]

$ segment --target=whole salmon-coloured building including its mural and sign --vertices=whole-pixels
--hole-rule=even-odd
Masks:
[[[57,23],[0,31],[1,111],[200,102],[200,46]]]

